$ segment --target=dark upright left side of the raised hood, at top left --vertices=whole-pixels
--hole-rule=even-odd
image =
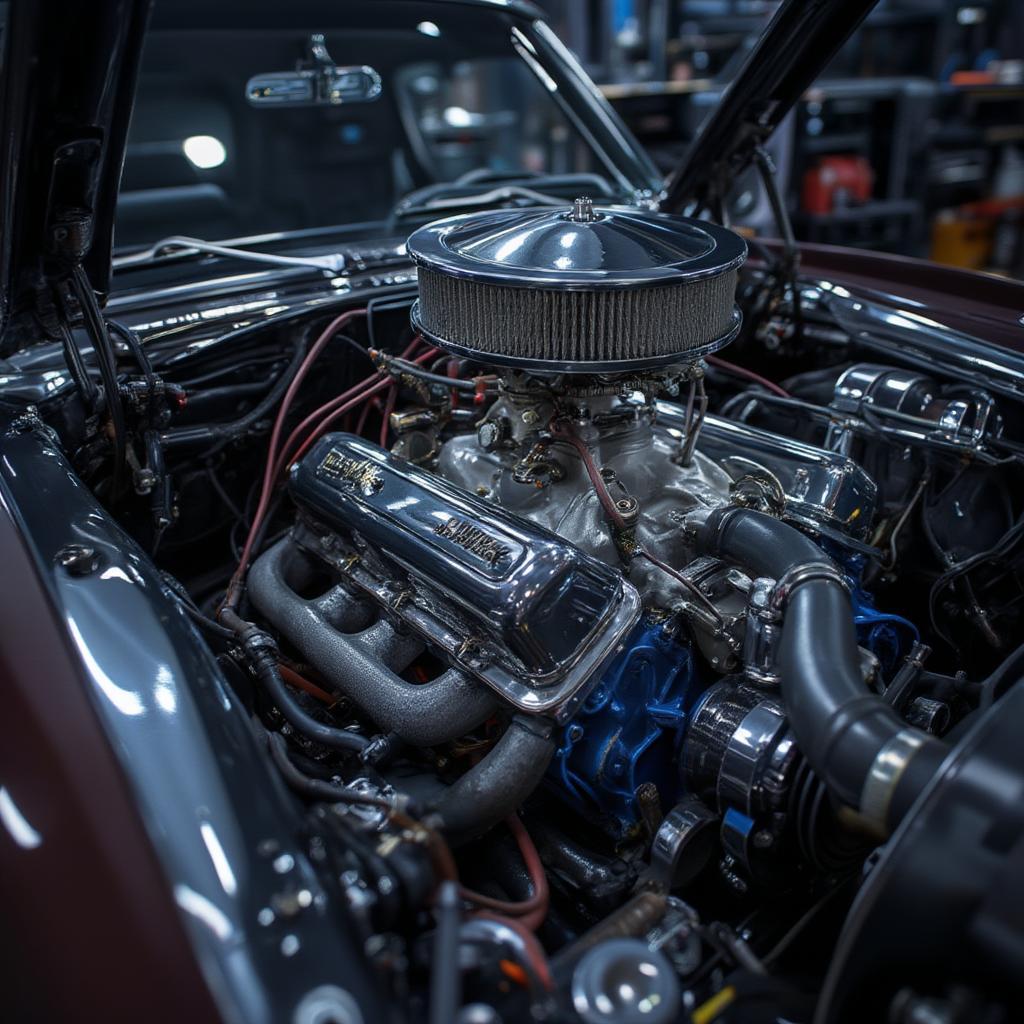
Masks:
[[[3,33],[0,354],[78,265],[110,287],[114,211],[150,0],[12,0]]]

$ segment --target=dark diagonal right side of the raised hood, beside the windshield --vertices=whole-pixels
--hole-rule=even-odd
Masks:
[[[784,0],[666,181],[662,209],[724,198],[877,2]]]

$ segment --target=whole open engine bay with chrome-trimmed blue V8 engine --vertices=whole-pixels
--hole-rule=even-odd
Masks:
[[[330,301],[79,294],[137,362],[120,456],[74,339],[3,380],[289,793],[330,898],[260,926],[350,919],[396,1019],[1010,1020],[941,957],[858,1002],[892,923],[844,919],[995,727],[1020,357],[586,198],[348,265]]]

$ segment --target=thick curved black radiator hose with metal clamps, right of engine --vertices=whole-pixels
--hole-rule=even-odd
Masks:
[[[802,564],[829,562],[818,545],[793,526],[746,509],[712,513],[698,531],[697,549],[776,580]],[[853,609],[838,583],[813,580],[794,590],[784,610],[777,659],[800,750],[837,799],[860,807],[879,754],[909,727],[864,685]],[[890,827],[938,770],[945,753],[940,740],[924,738],[889,804]]]

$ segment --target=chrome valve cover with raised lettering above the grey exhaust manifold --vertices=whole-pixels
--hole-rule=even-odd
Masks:
[[[354,435],[323,438],[291,493],[341,535],[319,557],[524,711],[567,713],[639,615],[608,565]]]

